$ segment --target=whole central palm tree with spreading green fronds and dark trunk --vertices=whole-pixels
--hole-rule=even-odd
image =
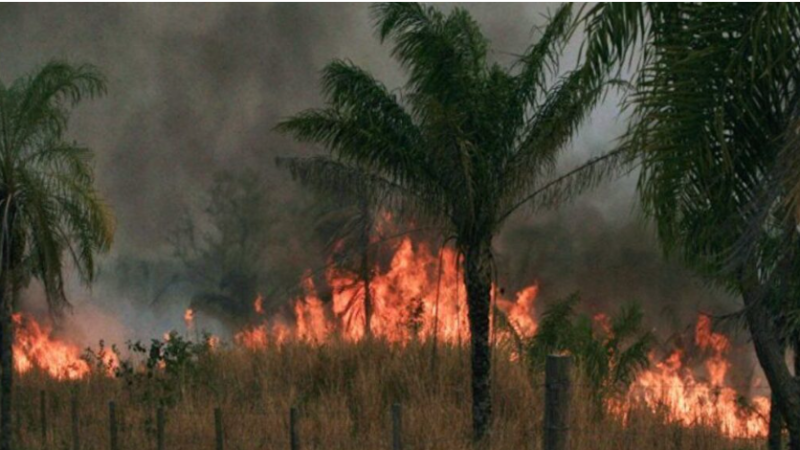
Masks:
[[[555,178],[558,155],[602,86],[584,89],[586,71],[558,76],[570,5],[510,68],[488,62],[489,42],[463,9],[444,14],[388,3],[373,13],[379,38],[393,42],[392,55],[408,74],[405,87],[392,92],[358,66],[333,61],[323,71],[327,106],[295,115],[279,130],[324,145],[370,195],[429,218],[453,238],[463,258],[479,441],[491,419],[492,240],[521,205],[554,205],[613,166],[609,158],[573,182]],[[347,179],[330,176],[331,186],[345,188]]]

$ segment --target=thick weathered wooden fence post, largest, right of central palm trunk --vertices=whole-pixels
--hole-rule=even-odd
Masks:
[[[545,364],[544,450],[569,448],[572,357],[549,355]]]

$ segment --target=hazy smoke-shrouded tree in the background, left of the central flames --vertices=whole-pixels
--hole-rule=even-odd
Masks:
[[[228,322],[253,313],[264,288],[271,221],[264,179],[255,171],[220,172],[202,214],[185,214],[171,245],[182,280],[196,294],[192,306]]]

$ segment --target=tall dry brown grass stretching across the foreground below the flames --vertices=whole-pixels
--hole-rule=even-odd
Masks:
[[[71,445],[70,392],[80,404],[82,448],[107,449],[108,402],[117,403],[123,450],[155,448],[155,406],[167,394],[167,449],[211,449],[213,408],[222,408],[226,449],[288,449],[288,411],[300,411],[303,449],[390,448],[390,405],[403,406],[407,449],[469,449],[468,352],[383,343],[288,345],[262,352],[217,351],[200,361],[175,389],[155,379],[126,385],[101,375],[57,382],[42,374],[18,379],[16,448],[41,449],[39,392],[48,392],[47,447]],[[498,356],[490,448],[541,448],[543,380]],[[183,394],[180,392],[183,391]],[[760,443],[732,441],[702,427],[664,425],[655,415],[633,414],[628,426],[593,413],[588,392],[576,384],[572,448],[745,449]]]

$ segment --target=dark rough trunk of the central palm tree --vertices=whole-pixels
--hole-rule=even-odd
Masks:
[[[489,346],[491,242],[467,245],[463,253],[472,359],[472,432],[473,441],[478,442],[488,434],[492,418],[492,360]]]

